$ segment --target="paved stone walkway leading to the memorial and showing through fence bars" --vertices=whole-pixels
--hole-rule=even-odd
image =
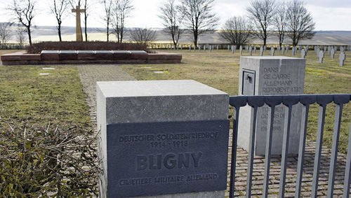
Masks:
[[[118,80],[135,80],[132,76],[128,75],[123,71],[120,66],[116,64],[111,65],[78,65],[77,66],[81,78],[81,83],[86,93],[86,99],[91,110],[91,120],[96,125],[96,81],[118,81]],[[230,132],[232,136],[232,131]],[[230,138],[231,140],[232,138]],[[230,153],[232,149],[232,141],[230,141]],[[313,163],[314,163],[314,151],[315,143],[307,142],[305,151],[305,167],[303,172],[303,188],[301,197],[310,197],[312,188],[312,176],[313,176]],[[326,191],[328,188],[328,175],[329,175],[329,162],[330,162],[329,148],[323,148],[322,151],[322,163],[319,176],[319,197],[326,197]],[[229,154],[229,164],[230,169]],[[246,170],[247,170],[248,153],[238,148],[237,154],[237,175],[235,182],[235,195],[237,197],[244,197],[246,190]],[[294,197],[295,186],[296,186],[296,167],[297,157],[289,157],[288,167],[286,169],[286,194],[285,197]],[[270,166],[270,190],[269,197],[277,197],[279,192],[279,177],[280,177],[280,158],[272,158]],[[261,197],[263,189],[263,174],[265,169],[264,157],[256,156],[254,160],[253,168],[253,197]],[[340,197],[343,194],[343,181],[345,172],[345,155],[339,153],[338,155],[338,167],[336,169],[336,182],[334,187],[334,197]],[[229,173],[228,171],[228,186],[229,190]],[[229,193],[226,193],[226,197]]]

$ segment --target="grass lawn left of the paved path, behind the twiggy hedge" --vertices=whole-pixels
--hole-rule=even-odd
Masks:
[[[15,52],[0,50],[0,55],[10,51]],[[4,120],[42,126],[48,122],[60,126],[92,125],[75,66],[0,66],[0,87],[0,116]]]

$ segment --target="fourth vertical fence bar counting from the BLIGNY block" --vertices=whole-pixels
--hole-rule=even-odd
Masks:
[[[289,136],[290,136],[292,108],[293,108],[292,105],[285,106],[285,112],[286,110],[288,110],[289,113],[288,113],[288,116],[285,115],[285,119],[284,119],[282,165],[280,168],[281,171],[280,171],[280,181],[279,181],[279,197],[284,197],[284,193],[285,193],[286,164],[288,163]]]

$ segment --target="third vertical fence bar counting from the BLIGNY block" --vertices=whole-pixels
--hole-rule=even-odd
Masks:
[[[270,154],[272,151],[272,136],[273,136],[273,123],[274,123],[274,110],[275,106],[270,107],[270,120],[268,120],[269,126],[267,126],[267,140],[265,146],[265,177],[263,180],[263,197],[268,197],[268,185],[270,180]],[[268,129],[269,127],[269,129]]]

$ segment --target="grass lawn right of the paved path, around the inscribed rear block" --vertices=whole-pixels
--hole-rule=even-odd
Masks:
[[[173,52],[171,50],[160,50]],[[150,64],[150,65],[123,65],[124,71],[138,80],[197,80],[218,90],[237,95],[239,90],[239,50],[234,55],[229,50],[213,50],[213,52],[190,52],[189,50],[176,51],[183,55],[183,64]],[[259,50],[253,55],[259,55]],[[243,55],[248,55],[244,52]],[[265,52],[270,56],[270,50]],[[276,55],[279,55],[276,52]],[[291,57],[291,50],[289,51]],[[299,56],[299,52],[296,55]],[[351,53],[347,52],[345,66],[338,66],[338,55],[331,59],[325,55],[324,64],[319,64],[314,51],[308,52],[305,74],[305,94],[336,94],[351,93]],[[151,68],[145,68],[149,67]],[[164,73],[154,73],[164,71]],[[334,105],[328,106],[324,145],[331,147],[333,133]],[[317,104],[310,109],[308,139],[315,140],[317,131]],[[347,104],[343,111],[343,124],[340,134],[339,150],[347,151],[347,140],[351,119],[351,105]]]

